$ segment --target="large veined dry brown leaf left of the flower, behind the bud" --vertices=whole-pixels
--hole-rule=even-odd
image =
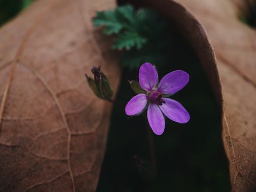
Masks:
[[[111,104],[84,73],[120,70],[91,18],[114,0],[38,0],[0,30],[0,191],[95,191]],[[108,65],[106,65],[108,63]]]

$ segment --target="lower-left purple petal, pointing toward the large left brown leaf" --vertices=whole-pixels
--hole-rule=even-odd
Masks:
[[[126,115],[136,115],[146,106],[147,98],[145,94],[135,95],[125,106]]]

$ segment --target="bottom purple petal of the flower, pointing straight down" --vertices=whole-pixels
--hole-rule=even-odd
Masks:
[[[162,135],[165,127],[165,121],[161,110],[157,104],[148,105],[147,120],[151,129],[156,135]]]

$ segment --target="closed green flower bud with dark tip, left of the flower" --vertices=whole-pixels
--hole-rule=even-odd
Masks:
[[[86,74],[89,87],[100,99],[110,100],[113,95],[113,89],[108,77],[100,71],[100,66],[98,68],[94,66],[92,68],[92,73],[94,74],[94,79]]]

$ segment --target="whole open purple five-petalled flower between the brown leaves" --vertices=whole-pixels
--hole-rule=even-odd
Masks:
[[[139,70],[139,84],[146,94],[138,94],[126,104],[126,115],[140,114],[148,103],[147,120],[156,135],[162,135],[164,132],[163,114],[178,123],[188,122],[190,116],[186,109],[178,101],[163,97],[180,91],[188,81],[189,75],[177,70],[166,74],[157,86],[157,70],[151,63],[144,63]]]

